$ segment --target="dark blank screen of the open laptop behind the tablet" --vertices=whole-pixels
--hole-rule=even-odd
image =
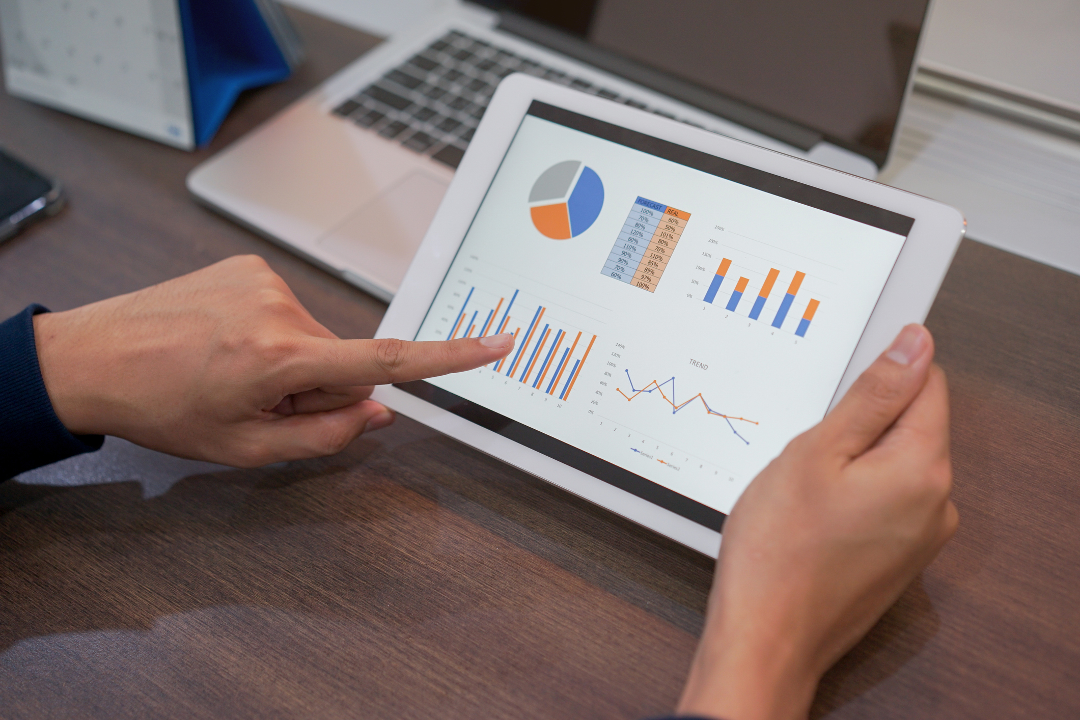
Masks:
[[[928,0],[486,0],[885,161]]]

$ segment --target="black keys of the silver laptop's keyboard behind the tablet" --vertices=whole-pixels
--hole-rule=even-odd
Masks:
[[[451,30],[361,90],[334,112],[456,168],[495,94],[495,86],[511,72],[525,72],[591,95],[648,109],[645,103],[623,97],[584,78],[569,76]],[[657,109],[652,112],[675,118]]]

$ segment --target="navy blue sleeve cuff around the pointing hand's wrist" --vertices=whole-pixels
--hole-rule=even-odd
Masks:
[[[53,411],[38,366],[30,305],[0,323],[0,479],[102,447],[100,435],[72,435]]]

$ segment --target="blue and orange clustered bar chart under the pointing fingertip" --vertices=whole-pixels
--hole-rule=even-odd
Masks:
[[[513,352],[490,369],[561,400],[569,399],[596,335],[556,320],[544,304],[524,301],[519,289],[509,298],[482,295],[486,299],[480,299],[475,286],[469,289],[446,339],[512,332]]]

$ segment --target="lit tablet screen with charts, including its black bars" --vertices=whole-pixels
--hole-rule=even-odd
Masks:
[[[913,223],[536,101],[416,336],[514,350],[399,386],[719,529],[824,416]]]

